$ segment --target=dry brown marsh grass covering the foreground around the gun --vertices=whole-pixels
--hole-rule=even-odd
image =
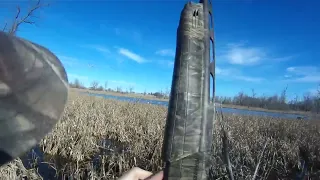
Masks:
[[[44,161],[57,169],[59,179],[62,175],[114,179],[134,166],[156,172],[163,165],[166,113],[161,106],[70,93],[61,121],[40,143],[46,155]],[[227,177],[221,124],[228,134],[226,152],[235,179],[251,179],[259,160],[258,179],[292,179],[301,159],[308,161],[310,176],[320,170],[318,122],[235,115],[218,119],[211,160],[215,179]],[[18,178],[15,172],[19,168],[14,163],[0,168],[1,178]],[[29,171],[36,173],[34,169]],[[31,178],[32,173],[24,174]]]

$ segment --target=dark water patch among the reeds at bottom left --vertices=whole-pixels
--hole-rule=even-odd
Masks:
[[[77,172],[80,179],[88,179],[91,172],[87,165],[91,164],[93,170],[100,174],[103,169],[108,170],[108,167],[102,168],[102,166],[108,165],[104,162],[106,157],[130,152],[127,144],[112,139],[102,139],[98,142],[98,146],[99,151],[89,161],[78,163],[59,155],[47,155],[38,145],[20,158],[26,169],[36,169],[44,180],[75,179],[74,174],[79,168],[77,165],[80,166],[80,172]],[[112,171],[118,171],[118,168],[113,167]]]

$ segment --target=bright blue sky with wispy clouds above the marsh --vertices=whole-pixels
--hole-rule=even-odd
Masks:
[[[185,0],[56,0],[18,36],[48,47],[70,81],[160,91],[171,85],[176,29]],[[1,1],[0,20],[26,1]],[[289,98],[320,83],[320,1],[213,0],[217,95]]]

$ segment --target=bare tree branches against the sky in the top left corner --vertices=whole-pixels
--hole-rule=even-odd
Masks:
[[[25,15],[22,15],[20,6],[17,6],[17,12],[14,19],[12,20],[12,25],[8,27],[8,23],[6,22],[4,24],[3,31],[15,36],[18,28],[22,24],[35,24],[35,21],[32,20],[35,17],[35,11],[48,5],[49,4],[41,3],[41,0],[38,0],[35,4],[30,6]]]

